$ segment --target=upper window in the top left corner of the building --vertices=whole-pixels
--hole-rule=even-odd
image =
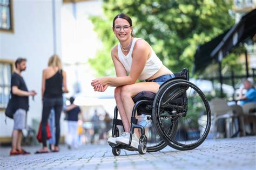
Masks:
[[[0,31],[14,32],[12,0],[0,0]]]

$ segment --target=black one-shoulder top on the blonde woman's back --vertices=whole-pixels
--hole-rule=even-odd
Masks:
[[[52,77],[45,80],[44,97],[62,97],[62,83],[63,76],[62,70],[60,70]]]

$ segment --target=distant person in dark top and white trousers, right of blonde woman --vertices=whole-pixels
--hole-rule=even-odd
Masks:
[[[78,147],[78,114],[81,113],[81,110],[78,105],[74,104],[75,98],[70,97],[70,105],[65,108],[68,121],[68,137],[66,143],[68,148]]]

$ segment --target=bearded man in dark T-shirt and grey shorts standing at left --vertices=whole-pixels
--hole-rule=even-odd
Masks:
[[[22,130],[26,128],[26,114],[29,110],[29,96],[35,96],[36,91],[28,91],[21,73],[26,70],[26,59],[15,61],[15,72],[11,75],[11,98],[16,107],[14,110],[14,130],[12,132],[12,150],[10,155],[30,154],[21,147]]]

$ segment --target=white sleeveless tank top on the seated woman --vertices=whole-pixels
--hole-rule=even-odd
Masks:
[[[123,64],[127,74],[130,74],[130,70],[132,66],[132,51],[133,51],[134,44],[138,39],[139,38],[133,38],[132,46],[127,55],[124,55],[124,53],[122,52],[120,42],[118,43],[118,46],[117,46],[119,61]],[[161,62],[161,60],[158,58],[156,53],[151,48],[151,56],[149,59],[147,59],[146,65],[142,70],[142,73],[139,75],[138,79],[139,80],[149,79],[149,77],[153,76],[158,72],[161,66],[163,66],[163,62]]]

